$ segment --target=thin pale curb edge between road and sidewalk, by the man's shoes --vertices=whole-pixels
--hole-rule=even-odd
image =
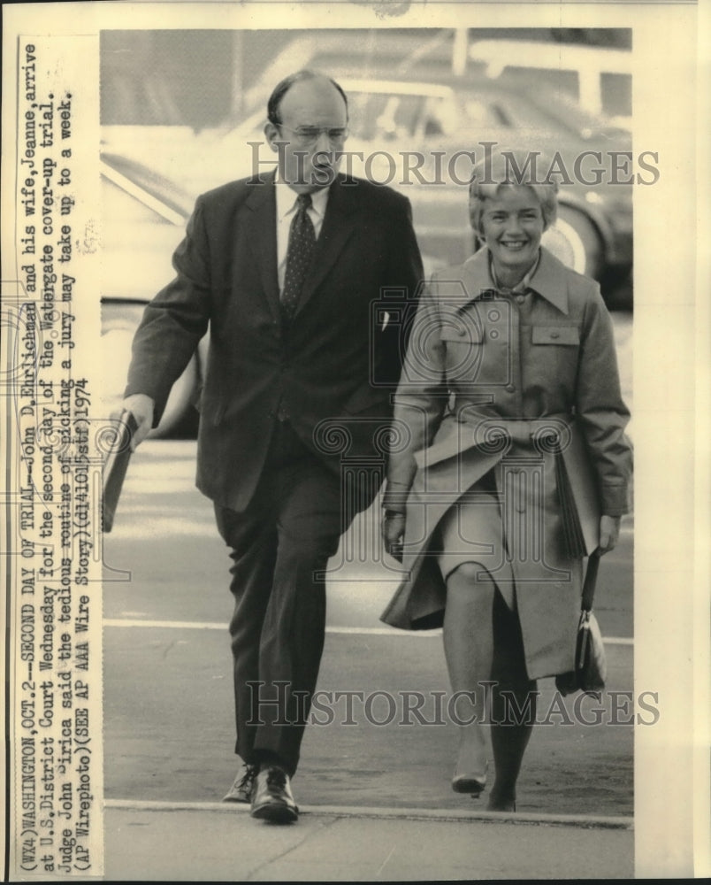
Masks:
[[[223,812],[249,811],[246,802],[155,802],[141,799],[105,799],[105,809],[136,812]],[[405,820],[488,820],[499,823],[557,824],[569,827],[632,829],[634,819],[623,815],[544,814],[539,812],[478,812],[448,808],[379,808],[372,805],[302,805],[300,814],[340,818],[400,818]]]

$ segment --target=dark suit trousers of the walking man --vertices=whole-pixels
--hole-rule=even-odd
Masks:
[[[293,775],[324,647],[323,572],[348,522],[340,479],[276,421],[247,508],[215,513],[233,559],[236,752]]]

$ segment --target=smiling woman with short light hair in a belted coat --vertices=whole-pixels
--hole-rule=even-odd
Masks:
[[[443,626],[460,701],[452,789],[485,789],[490,722],[488,809],[510,812],[536,680],[573,669],[583,560],[615,547],[631,449],[600,288],[541,246],[557,187],[500,173],[483,164],[470,185],[485,248],[434,274],[413,324],[394,410],[407,442],[383,499],[407,577],[382,618]],[[585,482],[567,508],[570,477]]]

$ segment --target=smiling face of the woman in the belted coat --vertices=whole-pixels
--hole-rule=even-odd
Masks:
[[[500,188],[495,198],[484,201],[482,234],[494,269],[509,278],[519,271],[523,278],[531,267],[544,227],[538,198],[525,185]]]

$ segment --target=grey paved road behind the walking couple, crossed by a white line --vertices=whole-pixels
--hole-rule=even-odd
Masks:
[[[228,560],[210,503],[193,487],[194,458],[193,442],[145,443],[105,538],[110,799],[212,802],[235,772]],[[341,557],[346,550],[348,543]],[[456,734],[446,707],[440,713],[435,705],[437,692],[447,689],[441,637],[382,625],[378,615],[394,575],[386,564],[373,564],[367,550],[362,559],[334,573],[329,586],[319,689],[333,699],[323,696],[319,720],[333,721],[310,727],[294,781],[297,799],[310,805],[483,807],[484,800],[474,803],[449,788]],[[339,563],[338,557],[332,561]],[[593,698],[583,699],[578,712],[600,723],[585,726],[575,721],[579,698],[555,706],[552,682],[540,682],[539,721],[545,724],[527,754],[520,812],[632,812],[630,523],[620,548],[603,561],[596,609],[605,635],[622,640],[608,645],[608,689],[622,694],[606,694],[600,713]],[[337,691],[351,693],[349,717]],[[407,691],[423,693],[419,717],[408,712],[417,700]]]

